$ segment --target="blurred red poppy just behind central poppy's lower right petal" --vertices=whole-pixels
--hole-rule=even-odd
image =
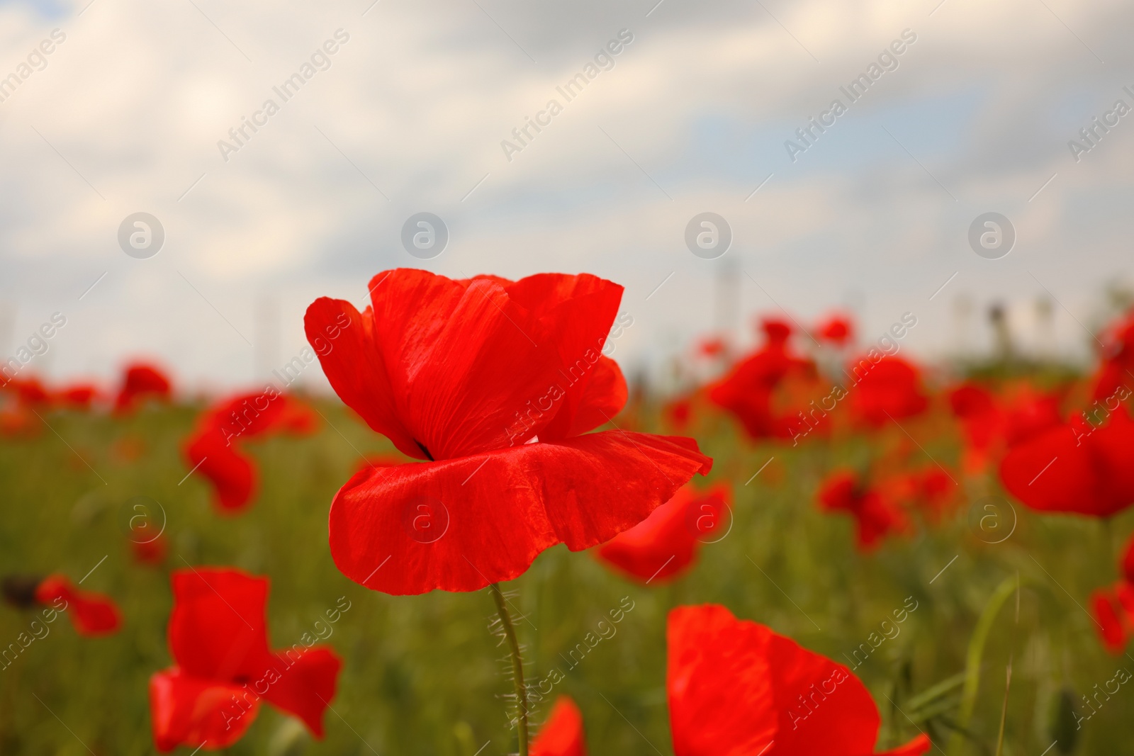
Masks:
[[[697,543],[728,527],[731,498],[725,484],[704,493],[686,484],[650,517],[599,546],[595,554],[645,583],[677,578],[693,564]]]

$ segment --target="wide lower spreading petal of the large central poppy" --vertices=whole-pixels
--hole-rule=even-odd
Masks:
[[[350,579],[390,594],[476,591],[519,576],[557,543],[609,541],[711,466],[689,439],[608,431],[371,468],[335,496],[331,555]]]

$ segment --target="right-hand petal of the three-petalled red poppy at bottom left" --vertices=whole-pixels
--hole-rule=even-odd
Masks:
[[[335,698],[342,661],[330,648],[316,646],[302,654],[278,652],[273,669],[279,677],[270,682],[264,700],[295,714],[316,737],[323,737],[323,714]]]

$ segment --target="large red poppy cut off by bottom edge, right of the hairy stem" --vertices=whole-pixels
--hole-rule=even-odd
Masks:
[[[826,656],[723,606],[669,613],[676,756],[870,756],[881,717],[866,687]],[[932,747],[921,734],[888,756]]]

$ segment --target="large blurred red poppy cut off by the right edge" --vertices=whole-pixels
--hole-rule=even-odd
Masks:
[[[1101,426],[1081,418],[1017,444],[1000,482],[1032,509],[1109,517],[1134,503],[1134,421],[1125,409]]]

